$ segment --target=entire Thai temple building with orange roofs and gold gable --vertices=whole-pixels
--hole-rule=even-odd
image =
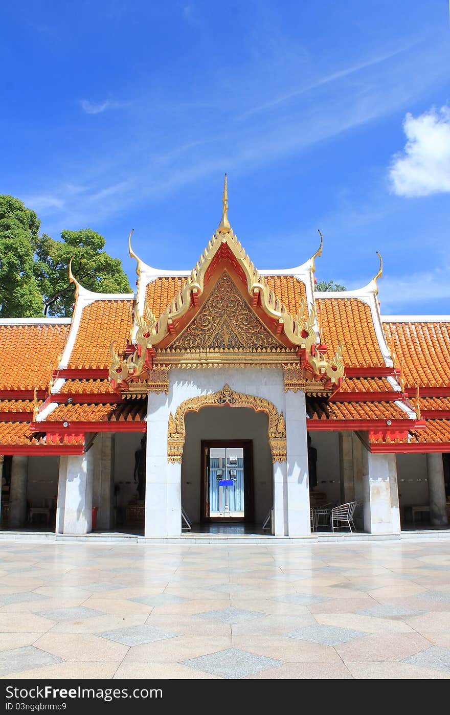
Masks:
[[[257,270],[226,177],[222,205],[192,270],[147,265],[130,235],[134,293],[69,266],[72,318],[0,320],[1,531],[447,526],[450,316],[381,315],[381,257],[361,290],[318,292],[322,238]]]

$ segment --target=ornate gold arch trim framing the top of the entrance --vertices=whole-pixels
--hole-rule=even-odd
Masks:
[[[278,413],[277,408],[269,400],[235,393],[229,385],[224,385],[222,390],[211,395],[199,395],[190,398],[178,405],[175,418],[170,413],[167,425],[167,461],[181,463],[183,447],[185,446],[186,428],[185,415],[187,412],[198,412],[203,407],[249,407],[255,412],[265,412],[269,418],[268,438],[273,462],[286,461],[286,425],[283,413]]]

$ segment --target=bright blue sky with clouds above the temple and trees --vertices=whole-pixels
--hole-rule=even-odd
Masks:
[[[9,3],[0,193],[42,230],[191,268],[221,215],[260,268],[450,314],[446,0]]]

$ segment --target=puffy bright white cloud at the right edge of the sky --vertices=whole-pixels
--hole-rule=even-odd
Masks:
[[[450,192],[450,107],[406,114],[403,152],[395,154],[390,177],[398,196],[429,196]]]

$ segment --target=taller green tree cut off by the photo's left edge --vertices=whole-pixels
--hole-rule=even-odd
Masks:
[[[40,222],[12,196],[0,195],[0,317],[42,315],[33,253]]]

